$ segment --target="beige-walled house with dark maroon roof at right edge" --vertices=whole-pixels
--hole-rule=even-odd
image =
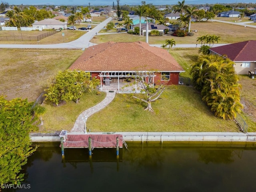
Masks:
[[[218,54],[229,58],[234,64],[237,74],[248,74],[256,70],[256,40],[210,48],[210,54]]]

